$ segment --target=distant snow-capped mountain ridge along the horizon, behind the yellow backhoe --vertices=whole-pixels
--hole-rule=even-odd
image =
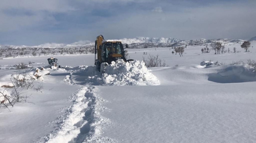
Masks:
[[[256,40],[256,37],[251,40]],[[123,44],[129,44],[130,48],[149,48],[149,47],[172,47],[172,46],[182,46],[182,45],[202,45],[212,42],[222,42],[222,43],[239,43],[244,42],[244,40],[236,39],[197,39],[197,40],[181,40],[176,38],[149,38],[149,37],[136,37],[132,39],[119,39],[119,40],[107,40],[107,41],[121,41]],[[79,41],[72,44],[56,44],[56,43],[46,43],[38,46],[15,46],[15,45],[0,45],[0,48],[64,48],[64,47],[90,47],[94,46],[94,42],[91,41]]]

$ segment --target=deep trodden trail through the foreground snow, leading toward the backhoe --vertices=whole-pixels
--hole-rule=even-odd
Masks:
[[[100,111],[106,110],[101,106],[106,101],[96,91],[95,86],[87,85],[77,92],[70,114],[57,131],[46,137],[47,143],[115,142],[101,137],[102,126],[109,120],[100,115]]]

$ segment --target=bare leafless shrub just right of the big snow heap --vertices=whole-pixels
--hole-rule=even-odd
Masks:
[[[156,56],[149,54],[147,59],[143,57],[143,62],[145,63],[146,67],[165,67],[166,66],[165,60],[160,59],[158,54]]]

